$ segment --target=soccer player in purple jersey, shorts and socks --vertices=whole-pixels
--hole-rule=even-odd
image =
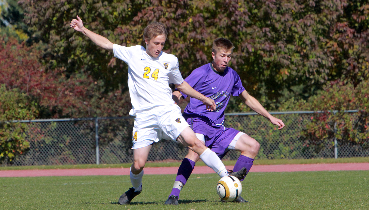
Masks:
[[[224,127],[224,110],[230,96],[240,97],[252,110],[268,118],[272,124],[277,125],[278,129],[282,129],[284,124],[282,120],[270,115],[258,100],[247,93],[238,74],[227,66],[231,60],[233,48],[234,46],[230,40],[225,38],[215,39],[213,52],[211,52],[214,60],[193,70],[184,79],[195,90],[215,101],[215,111],[207,111],[200,101],[190,98],[189,104],[184,109],[183,117],[191,125],[197,138],[214,151],[220,159],[230,149],[240,151],[241,155],[234,165],[233,171],[238,171],[244,167],[247,169],[247,174],[251,169],[255,156],[258,154],[260,144],[244,132]],[[181,96],[187,97],[185,93],[178,90],[173,92],[173,99],[177,104]],[[179,166],[172,192],[165,204],[178,204],[180,190],[186,184],[198,160],[199,155],[189,150]],[[246,201],[242,197],[238,197],[234,202],[244,203]]]

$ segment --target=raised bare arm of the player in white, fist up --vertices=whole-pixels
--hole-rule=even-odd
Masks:
[[[96,34],[90,30],[88,30],[86,27],[83,26],[83,22],[80,17],[77,16],[77,19],[73,19],[70,22],[70,28],[73,28],[76,31],[82,32],[85,34],[93,43],[95,43],[97,46],[108,50],[110,52],[113,52],[113,43],[109,41],[107,38]]]

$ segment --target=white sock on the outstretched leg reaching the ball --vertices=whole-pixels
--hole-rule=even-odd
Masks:
[[[219,159],[218,155],[215,152],[211,151],[211,149],[207,148],[200,155],[201,160],[209,166],[211,169],[215,171],[220,177],[227,176],[227,170],[223,162]]]

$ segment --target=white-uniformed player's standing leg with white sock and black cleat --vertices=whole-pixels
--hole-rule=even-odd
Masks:
[[[144,176],[144,167],[146,164],[147,157],[149,155],[151,145],[146,147],[133,149],[133,163],[130,168],[130,179],[132,187],[123,193],[118,202],[121,205],[128,204],[131,200],[141,193],[142,191],[142,176]]]

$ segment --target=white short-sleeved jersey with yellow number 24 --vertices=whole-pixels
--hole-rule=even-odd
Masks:
[[[174,103],[169,83],[183,83],[176,56],[161,52],[154,58],[141,45],[124,47],[114,44],[113,52],[114,57],[128,64],[131,115],[135,115],[137,111]]]

